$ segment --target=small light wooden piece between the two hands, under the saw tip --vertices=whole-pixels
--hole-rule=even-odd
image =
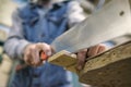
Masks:
[[[50,62],[51,64],[63,66],[66,70],[76,73],[75,70],[76,55],[75,54],[72,55],[70,52],[66,50],[62,50],[52,55],[51,58],[49,58],[48,62]]]

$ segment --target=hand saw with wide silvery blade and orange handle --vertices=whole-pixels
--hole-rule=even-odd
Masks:
[[[131,0],[111,0],[103,9],[93,13],[58,38],[51,47],[56,52],[76,52],[116,37],[131,34]],[[47,59],[41,54],[41,59]]]

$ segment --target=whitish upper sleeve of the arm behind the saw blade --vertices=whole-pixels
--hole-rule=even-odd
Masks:
[[[87,16],[84,14],[83,8],[78,1],[71,1],[68,3],[67,15],[69,27],[82,22]]]

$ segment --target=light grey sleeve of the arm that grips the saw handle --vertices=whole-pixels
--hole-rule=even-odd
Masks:
[[[19,11],[12,15],[12,27],[9,33],[8,40],[4,44],[4,50],[11,58],[23,58],[24,48],[29,45],[24,38],[22,20],[19,16]]]

